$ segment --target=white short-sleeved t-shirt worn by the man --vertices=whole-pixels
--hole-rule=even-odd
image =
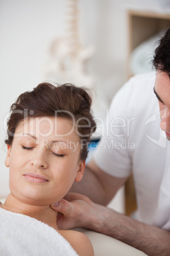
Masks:
[[[93,155],[105,173],[133,171],[137,219],[170,230],[170,141],[160,129],[155,72],[136,75],[115,95]]]

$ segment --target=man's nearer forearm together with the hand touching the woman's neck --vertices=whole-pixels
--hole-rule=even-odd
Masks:
[[[150,256],[170,255],[169,231],[126,217],[80,194],[70,193],[66,199],[53,207],[62,213],[58,215],[59,229],[85,227],[119,239]]]

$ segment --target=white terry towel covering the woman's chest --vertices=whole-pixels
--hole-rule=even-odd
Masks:
[[[0,208],[1,256],[78,256],[55,229],[20,213]]]

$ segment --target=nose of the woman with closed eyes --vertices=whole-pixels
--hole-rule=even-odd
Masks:
[[[46,169],[46,167],[48,167],[48,162],[46,160],[44,152],[42,152],[41,150],[35,152],[30,164],[37,169]]]

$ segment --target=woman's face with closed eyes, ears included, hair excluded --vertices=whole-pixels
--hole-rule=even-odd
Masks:
[[[10,167],[11,194],[23,203],[46,205],[62,199],[80,181],[85,162],[72,122],[37,117],[20,122],[5,164]]]

